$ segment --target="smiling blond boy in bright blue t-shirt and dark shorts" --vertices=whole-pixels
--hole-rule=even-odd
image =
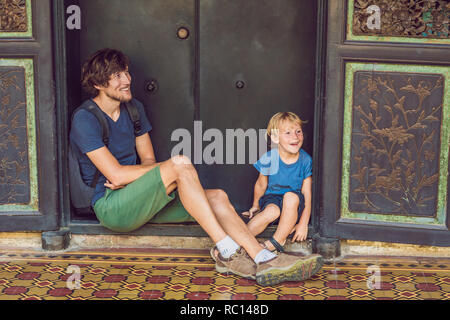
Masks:
[[[277,230],[264,246],[283,251],[287,237],[306,240],[311,216],[312,159],[304,150],[303,121],[292,112],[279,112],[269,121],[267,135],[277,148],[264,154],[255,164],[259,177],[254,188],[252,208],[244,212],[253,235],[278,222]]]

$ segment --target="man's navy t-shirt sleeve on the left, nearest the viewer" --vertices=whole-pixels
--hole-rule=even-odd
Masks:
[[[95,115],[86,110],[80,110],[74,115],[70,139],[82,153],[88,153],[105,146],[100,123]]]

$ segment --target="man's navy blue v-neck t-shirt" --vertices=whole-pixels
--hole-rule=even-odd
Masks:
[[[95,104],[93,100],[87,100],[83,105],[90,103]],[[140,136],[149,132],[152,129],[152,126],[145,115],[142,103],[136,99],[133,99],[133,103],[139,111],[141,131],[138,136]],[[135,149],[136,137],[134,135],[133,122],[131,121],[126,108],[123,105],[120,106],[120,116],[116,122],[114,122],[106,113],[104,113],[104,115],[109,126],[109,151],[121,165],[135,165],[137,160]],[[101,125],[94,114],[81,109],[74,115],[72,128],[70,130],[70,142],[72,143],[72,146],[75,146],[74,151],[77,153],[79,159],[81,177],[87,185],[90,185],[94,179],[97,168],[91,160],[89,160],[86,153],[105,146],[102,139]],[[100,173],[95,187],[95,193],[92,198],[92,206],[94,206],[95,202],[105,194],[105,182],[105,176]]]

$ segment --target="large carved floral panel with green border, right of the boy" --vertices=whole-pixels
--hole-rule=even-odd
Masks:
[[[450,68],[347,63],[342,217],[445,223]]]

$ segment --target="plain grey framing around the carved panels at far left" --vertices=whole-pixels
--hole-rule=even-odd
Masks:
[[[54,66],[52,64],[52,24],[50,0],[31,1],[32,35],[24,38],[2,39],[0,50],[2,58],[32,60],[32,79],[35,106],[34,126],[36,132],[36,158],[29,159],[30,166],[37,170],[35,189],[38,206],[33,211],[2,212],[0,214],[0,232],[50,231],[59,228],[58,180],[56,157],[57,130],[55,117],[55,99],[53,83]],[[29,76],[29,75],[26,75]],[[26,87],[26,84],[25,84]],[[30,96],[31,97],[31,96]],[[28,95],[27,95],[28,98]],[[35,163],[34,163],[35,162]],[[14,209],[13,209],[14,210]],[[18,209],[21,210],[21,209]]]

